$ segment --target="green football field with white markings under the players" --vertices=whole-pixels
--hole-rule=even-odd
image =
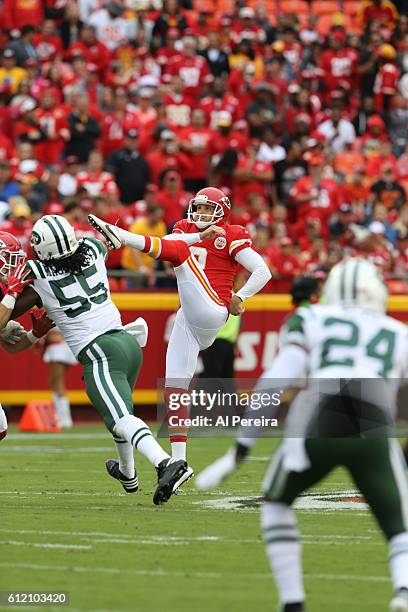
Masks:
[[[199,471],[230,444],[193,439],[191,465]],[[276,610],[258,505],[274,446],[260,441],[252,460],[211,494],[190,481],[157,508],[155,473],[140,455],[135,495],[106,474],[115,453],[102,428],[12,429],[0,444],[0,591],[67,591],[69,610]],[[308,609],[387,610],[387,547],[347,475],[338,470],[311,493],[298,510]]]

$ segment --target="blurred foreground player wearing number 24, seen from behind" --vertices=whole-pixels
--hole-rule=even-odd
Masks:
[[[344,466],[388,540],[395,590],[390,611],[408,612],[408,483],[393,429],[398,387],[408,373],[408,330],[385,315],[386,285],[366,260],[337,264],[324,297],[326,304],[300,307],[286,322],[270,370],[279,387],[293,384],[288,374],[295,381],[306,372],[308,385],[292,403],[286,438],[263,483],[267,556],[282,610],[303,612],[301,545],[291,505]],[[216,484],[210,473],[215,466],[197,477],[199,488]]]

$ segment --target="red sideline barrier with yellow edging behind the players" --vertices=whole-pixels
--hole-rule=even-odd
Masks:
[[[164,376],[166,335],[178,307],[178,296],[175,293],[146,292],[115,294],[113,297],[121,310],[124,323],[142,316],[149,325],[149,342],[143,349],[144,363],[134,401],[138,404],[155,403],[157,379]],[[238,341],[238,377],[258,377],[271,362],[277,349],[277,332],[290,310],[287,295],[264,294],[248,301]],[[408,323],[408,297],[391,297],[389,312]],[[23,318],[22,322],[28,328],[28,321]],[[25,351],[13,356],[1,352],[0,367],[0,402],[22,405],[36,397],[51,397],[47,368],[36,351]],[[88,403],[81,375],[81,367],[74,366],[70,368],[67,377],[70,399],[74,404]]]

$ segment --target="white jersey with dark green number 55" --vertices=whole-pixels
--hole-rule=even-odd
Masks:
[[[107,251],[99,240],[84,238],[83,241],[88,246],[88,256],[81,274],[57,273],[52,263],[27,261],[34,279],[31,286],[75,357],[98,336],[122,329],[119,310],[109,291]]]

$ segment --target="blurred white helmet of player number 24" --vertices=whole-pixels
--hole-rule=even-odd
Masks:
[[[326,304],[369,308],[381,314],[387,310],[387,285],[381,272],[366,259],[350,257],[336,264],[324,285]]]

